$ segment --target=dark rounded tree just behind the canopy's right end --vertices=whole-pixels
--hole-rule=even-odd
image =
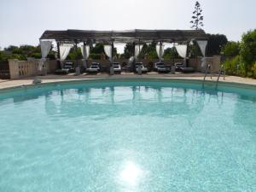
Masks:
[[[207,55],[220,55],[221,49],[228,43],[228,38],[223,34],[207,34]]]

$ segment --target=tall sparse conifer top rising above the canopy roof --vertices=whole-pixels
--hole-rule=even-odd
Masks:
[[[203,21],[204,17],[202,15],[201,4],[199,2],[195,3],[195,11],[193,11],[192,20],[190,23],[192,24],[191,28],[195,30],[201,29],[201,26],[204,26]]]

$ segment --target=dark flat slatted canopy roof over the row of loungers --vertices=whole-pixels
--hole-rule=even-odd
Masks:
[[[54,39],[61,44],[146,44],[152,42],[189,43],[191,40],[207,40],[203,30],[124,30],[124,31],[45,31],[40,38]]]

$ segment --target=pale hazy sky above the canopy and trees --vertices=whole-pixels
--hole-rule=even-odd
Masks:
[[[238,41],[256,28],[255,0],[201,0],[203,29]],[[195,0],[0,0],[0,47],[44,30],[189,29]]]

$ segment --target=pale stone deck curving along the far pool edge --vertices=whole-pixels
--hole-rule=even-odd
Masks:
[[[110,76],[107,73],[98,73],[98,74],[81,74],[74,75],[73,73],[68,75],[54,75],[49,74],[46,76],[38,76],[39,79],[42,79],[42,84],[46,83],[55,83],[55,82],[64,82],[64,81],[73,81],[73,80],[86,80],[86,79],[194,79],[194,80],[203,80],[204,73],[147,73],[143,75],[137,75],[134,73],[122,73],[114,74]],[[0,79],[0,90],[9,89],[14,87],[19,87],[22,85],[31,85],[32,80],[35,77],[23,78],[23,79]],[[217,75],[214,75],[211,79],[210,75],[207,76],[207,81],[216,81]],[[220,77],[219,81],[227,83],[239,83],[239,84],[253,84],[256,85],[256,79],[247,79],[236,76],[226,76],[225,79]]]

